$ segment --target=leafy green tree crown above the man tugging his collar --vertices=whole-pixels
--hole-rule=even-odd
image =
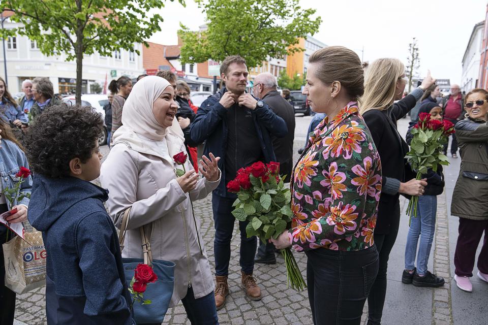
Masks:
[[[322,19],[315,9],[301,9],[299,0],[195,0],[206,14],[207,28],[191,31],[184,25],[178,35],[183,41],[181,61],[222,61],[240,55],[249,68],[268,57],[283,57],[303,51],[291,47],[299,38],[315,34]]]

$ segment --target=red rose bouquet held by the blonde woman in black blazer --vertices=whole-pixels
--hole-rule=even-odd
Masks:
[[[441,122],[431,119],[429,113],[420,113],[418,123],[413,126],[410,132],[413,139],[410,142],[410,151],[405,157],[412,169],[417,172],[416,179],[421,179],[428,169],[437,171],[439,164],[449,165],[449,160],[446,155],[442,154],[442,149],[447,143],[449,135],[454,133],[454,124],[448,120]],[[417,202],[418,197],[414,196],[408,204],[409,226],[412,216],[417,217]]]

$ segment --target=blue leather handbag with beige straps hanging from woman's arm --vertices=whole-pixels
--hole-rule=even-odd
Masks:
[[[120,226],[119,244],[120,251],[124,249],[124,239],[127,230],[127,224],[129,223],[129,214],[131,208],[124,211],[124,217]],[[146,291],[144,292],[144,299],[151,301],[148,305],[142,305],[137,301],[133,301],[133,313],[134,319],[137,324],[144,323],[162,323],[166,311],[168,310],[171,296],[173,295],[174,288],[174,262],[161,261],[159,259],[153,259],[151,253],[151,245],[149,243],[150,236],[147,236],[144,227],[140,229],[142,239],[142,252],[143,258],[123,258],[124,273],[126,276],[127,286],[130,286],[132,277],[134,276],[134,270],[137,265],[143,263],[153,267],[153,271],[158,276],[158,280],[154,283],[148,283]]]

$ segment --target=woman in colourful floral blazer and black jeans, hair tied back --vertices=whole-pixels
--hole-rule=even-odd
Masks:
[[[373,231],[381,164],[359,116],[363,93],[359,57],[331,46],[310,57],[303,94],[327,116],[310,134],[292,175],[292,229],[273,240],[305,251],[315,324],[359,324],[378,272]]]

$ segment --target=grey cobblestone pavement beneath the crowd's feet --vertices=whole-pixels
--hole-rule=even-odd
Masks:
[[[297,117],[297,126],[295,134],[295,149],[294,160],[296,161],[297,154],[296,149],[303,145],[304,133],[306,132],[310,117]],[[402,124],[403,120],[400,121]],[[406,123],[406,122],[405,122]],[[399,125],[401,128],[401,125]],[[405,134],[405,132],[400,132]],[[108,148],[102,147],[103,153],[108,154]],[[201,219],[201,233],[205,242],[205,249],[208,254],[211,269],[214,270],[214,220],[212,218],[211,209],[211,196],[208,196],[204,200],[197,201],[195,206],[195,214]],[[401,207],[403,210],[406,206],[406,200],[401,199]],[[449,249],[446,242],[448,241],[448,223],[447,223],[447,211],[446,211],[446,199],[445,193],[438,197],[438,219],[437,229],[435,237],[435,252],[434,259],[434,271],[439,275],[445,277],[446,285],[437,289],[425,288],[422,290],[412,291],[409,294],[408,290],[414,290],[411,286],[405,286],[398,284],[399,275],[403,265],[403,252],[404,249],[397,249],[392,251],[390,256],[390,269],[397,268],[398,270],[391,270],[391,274],[388,277],[388,291],[385,303],[385,313],[383,323],[391,324],[434,324],[444,325],[452,324],[452,312],[450,302],[450,272],[449,272]],[[403,218],[403,217],[402,217]],[[405,223],[405,220],[402,219]],[[401,232],[408,231],[408,226],[401,225]],[[399,235],[400,236],[400,235]],[[399,241],[399,240],[397,240]],[[254,276],[257,279],[258,285],[262,289],[263,299],[261,301],[252,301],[246,297],[243,289],[240,287],[240,267],[238,265],[239,260],[239,231],[237,223],[234,228],[234,237],[232,240],[232,253],[231,264],[229,268],[229,289],[230,295],[227,297],[226,305],[221,309],[219,314],[219,321],[222,325],[259,325],[259,324],[293,324],[293,325],[311,325],[313,324],[311,318],[311,311],[309,307],[307,292],[303,291],[298,293],[293,289],[286,286],[286,268],[284,265],[284,259],[281,255],[278,255],[276,265],[256,265]],[[401,245],[400,243],[398,245]],[[305,277],[305,265],[307,257],[303,253],[294,253],[298,265],[301,268],[302,275]],[[393,274],[394,272],[399,274]],[[396,283],[395,283],[396,282]],[[400,285],[400,286],[398,286]],[[400,289],[397,289],[397,288]],[[407,318],[400,318],[400,321],[392,321],[396,317],[392,317],[392,314],[415,314],[412,312],[412,305],[405,302],[402,296],[397,296],[399,290],[407,290],[407,297],[412,295],[418,295],[423,297],[426,302],[432,302],[432,317],[425,317],[428,319],[422,319],[422,321],[408,321]],[[404,293],[405,294],[405,293]],[[414,297],[412,297],[414,298]],[[394,307],[388,307],[394,306]],[[386,310],[390,308],[390,310]],[[394,310],[391,310],[393,308]],[[430,304],[424,305],[422,309],[429,309]],[[364,313],[362,317],[362,324],[365,324],[365,312],[367,306],[364,307]],[[19,325],[26,323],[28,325],[40,325],[46,323],[45,316],[45,300],[44,300],[44,288],[33,290],[24,295],[17,296],[16,305],[16,319]],[[23,323],[22,323],[23,322]],[[168,310],[164,324],[190,324],[187,319],[184,307],[179,304],[174,308]]]

